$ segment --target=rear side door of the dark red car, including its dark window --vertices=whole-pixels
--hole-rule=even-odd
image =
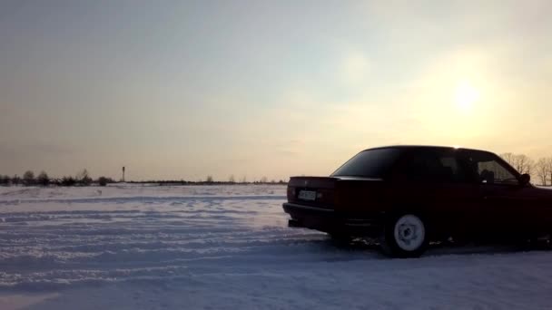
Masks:
[[[478,220],[478,191],[460,150],[411,150],[403,161],[406,203],[424,209],[439,237],[471,235]]]

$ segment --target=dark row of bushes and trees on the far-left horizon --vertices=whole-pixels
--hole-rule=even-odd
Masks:
[[[90,177],[88,170],[85,169],[79,171],[75,176],[64,176],[62,178],[50,178],[44,170],[36,176],[32,170],[25,171],[23,177],[19,177],[18,175],[13,177],[0,175],[0,185],[3,186],[89,186],[92,184],[106,186],[114,182],[113,179],[107,177],[100,177],[94,180]]]

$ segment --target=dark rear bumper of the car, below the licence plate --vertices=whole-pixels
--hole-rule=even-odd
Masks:
[[[379,236],[383,221],[380,215],[342,213],[331,208],[316,208],[286,202],[283,209],[290,214],[292,228],[310,228],[351,236]]]

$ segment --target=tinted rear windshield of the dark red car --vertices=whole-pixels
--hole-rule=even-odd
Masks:
[[[384,178],[399,159],[399,149],[364,150],[347,161],[332,177]]]

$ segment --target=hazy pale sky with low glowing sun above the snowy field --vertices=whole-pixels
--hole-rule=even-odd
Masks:
[[[550,1],[0,1],[0,174],[329,175],[552,156]]]

